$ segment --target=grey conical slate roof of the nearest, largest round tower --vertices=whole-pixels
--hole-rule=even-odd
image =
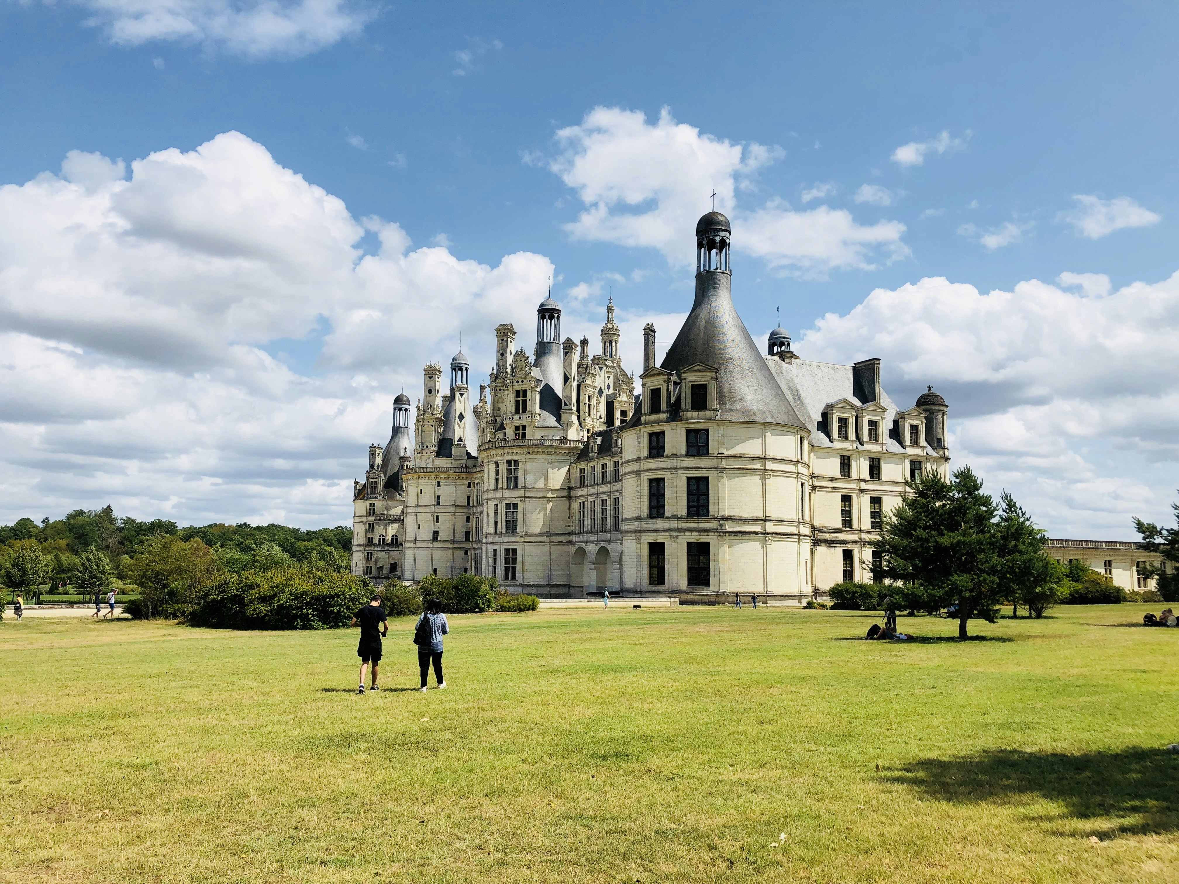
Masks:
[[[720,420],[803,427],[762,358],[745,323],[737,315],[730,285],[731,277],[726,271],[696,275],[692,311],[660,368],[665,371],[679,371],[703,362],[717,369]]]

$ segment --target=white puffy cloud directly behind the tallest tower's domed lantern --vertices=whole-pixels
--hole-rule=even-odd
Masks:
[[[847,211],[793,211],[780,199],[738,206],[738,191],[750,190],[753,176],[784,152],[704,134],[676,123],[668,108],[648,124],[639,111],[595,107],[579,125],[560,130],[556,141],[560,152],[549,169],[587,206],[565,225],[574,239],[659,249],[686,266],[694,245],[686,231],[709,210],[714,190],[717,210],[733,224],[733,248],[783,272],[823,276],[909,253],[900,222],[862,226]]]

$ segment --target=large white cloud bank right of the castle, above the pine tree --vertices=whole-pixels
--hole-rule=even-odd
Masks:
[[[1179,375],[1179,272],[1105,297],[1093,296],[1104,277],[1066,276],[1089,290],[1033,279],[981,295],[944,278],[877,289],[795,349],[881,357],[902,405],[933,384],[950,407],[953,466],[1012,490],[1056,536],[1133,539],[1132,515],[1170,520],[1177,484],[1179,394],[1159,378]]]

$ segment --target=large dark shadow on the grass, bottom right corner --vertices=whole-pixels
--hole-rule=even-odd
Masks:
[[[960,804],[1043,798],[1062,805],[1062,817],[1101,820],[1094,833],[1146,834],[1179,830],[1177,778],[1179,754],[1131,746],[1085,754],[992,750],[949,760],[927,758],[887,779]]]

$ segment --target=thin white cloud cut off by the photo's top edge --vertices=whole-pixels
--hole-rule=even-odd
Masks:
[[[47,5],[52,0],[44,0]],[[358,34],[375,17],[348,0],[73,0],[117,46],[197,44],[250,59],[298,58]],[[157,67],[163,67],[158,60]]]

